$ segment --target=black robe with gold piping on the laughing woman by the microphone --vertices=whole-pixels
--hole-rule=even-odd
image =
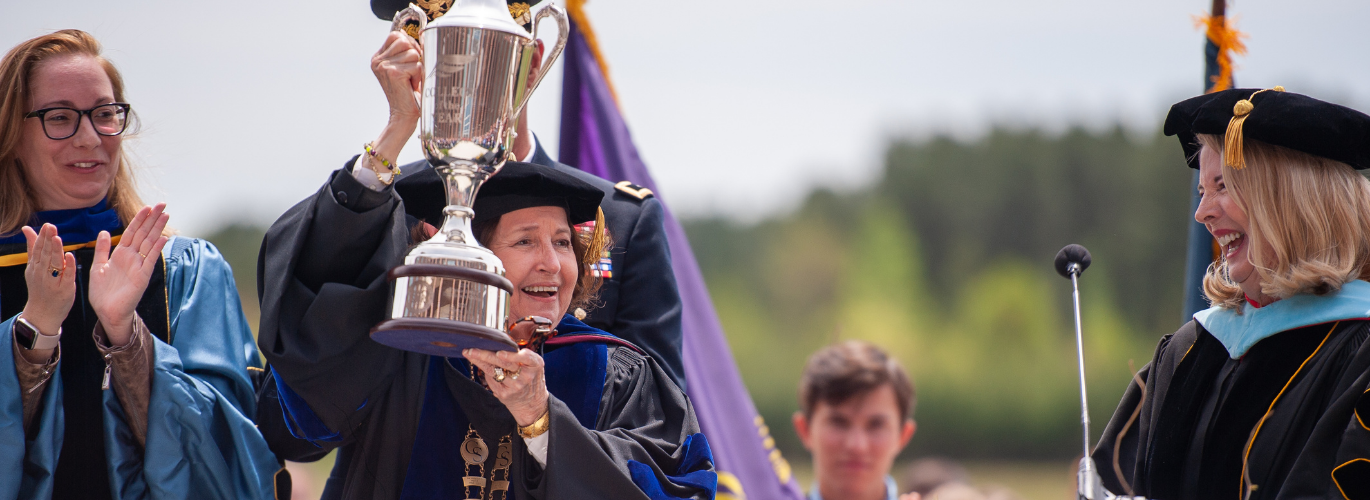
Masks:
[[[1160,500],[1237,500],[1247,485],[1249,499],[1370,497],[1367,337],[1367,321],[1311,325],[1232,359],[1191,321],[1141,370],[1145,397],[1132,384],[1104,429],[1092,453],[1104,486]]]

